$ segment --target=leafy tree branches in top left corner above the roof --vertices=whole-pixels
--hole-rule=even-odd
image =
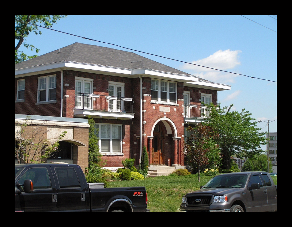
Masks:
[[[23,51],[18,50],[23,44],[27,49],[35,49],[36,53],[39,49],[32,44],[24,43],[26,37],[28,37],[30,32],[37,34],[42,34],[39,31],[37,25],[42,25],[46,28],[51,28],[53,23],[56,23],[62,18],[67,17],[66,15],[15,15],[15,40],[18,43],[15,47],[15,64],[36,57],[37,55],[28,56]],[[29,24],[28,24],[29,23]]]

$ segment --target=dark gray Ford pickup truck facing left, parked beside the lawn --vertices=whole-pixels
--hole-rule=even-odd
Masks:
[[[181,211],[277,211],[277,185],[267,172],[226,173],[183,196]]]

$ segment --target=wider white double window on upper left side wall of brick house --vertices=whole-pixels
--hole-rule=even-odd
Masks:
[[[38,79],[38,102],[56,100],[56,75],[43,76]]]

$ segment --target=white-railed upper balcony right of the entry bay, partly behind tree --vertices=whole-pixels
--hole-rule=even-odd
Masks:
[[[202,122],[210,116],[210,110],[207,106],[196,106],[184,103],[184,121],[188,122]]]

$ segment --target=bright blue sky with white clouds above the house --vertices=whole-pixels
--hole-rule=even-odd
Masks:
[[[54,24],[52,29],[184,62],[277,81],[277,17],[272,17],[68,16]],[[26,41],[40,49],[38,55],[75,42],[130,51],[44,28],[40,31],[42,35],[31,33]],[[36,54],[24,47],[20,50],[28,55]],[[218,92],[218,101],[222,106],[233,103],[232,110],[238,112],[245,108],[257,121],[277,119],[275,82],[135,53],[212,82],[231,85],[231,90]],[[267,123],[261,122],[258,126],[262,131],[267,131]],[[273,121],[270,132],[276,131],[277,121]]]

